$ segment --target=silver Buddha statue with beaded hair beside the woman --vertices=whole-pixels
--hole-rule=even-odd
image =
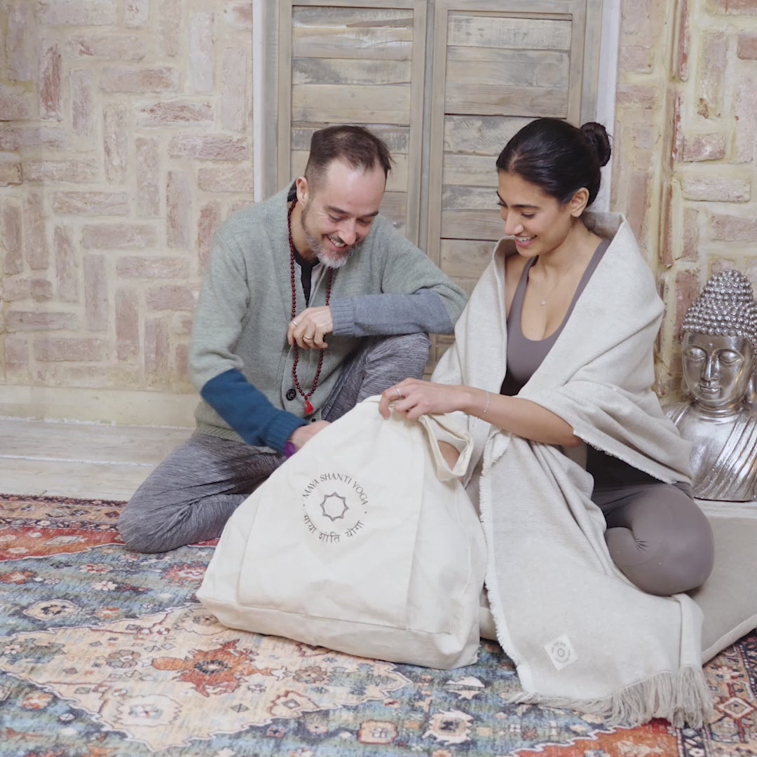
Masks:
[[[693,444],[692,494],[757,499],[757,301],[743,273],[712,276],[684,315],[681,357],[687,402],[664,408]]]

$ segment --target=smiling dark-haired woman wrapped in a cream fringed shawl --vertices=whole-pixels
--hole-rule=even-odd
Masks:
[[[497,245],[431,382],[391,386],[380,410],[460,411],[474,439],[464,483],[522,701],[696,723],[701,618],[678,593],[709,575],[712,531],[651,390],[652,273],[625,219],[587,213],[609,155],[597,123],[537,119],[508,142],[497,199],[515,249]]]

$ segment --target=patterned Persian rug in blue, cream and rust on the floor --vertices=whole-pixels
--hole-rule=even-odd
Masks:
[[[433,671],[223,628],[194,597],[213,544],[129,552],[120,506],[0,495],[2,757],[757,757],[757,634],[707,665],[701,731],[606,727],[507,705],[495,643]]]

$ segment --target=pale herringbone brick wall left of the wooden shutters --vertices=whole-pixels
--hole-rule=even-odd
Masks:
[[[6,396],[191,391],[210,237],[252,199],[251,25],[251,0],[0,6]]]

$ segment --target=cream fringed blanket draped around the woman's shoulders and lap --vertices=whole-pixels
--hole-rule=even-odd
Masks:
[[[662,481],[688,481],[690,448],[650,390],[662,316],[652,273],[622,217],[590,213],[587,225],[612,244],[519,396],[561,416],[587,444]],[[433,381],[500,390],[505,255],[500,242]],[[497,637],[523,688],[514,699],[618,724],[702,724],[710,696],[693,600],[654,597],[621,575],[590,501],[592,478],[563,450],[473,417],[467,423],[475,451],[466,488],[488,542]]]

